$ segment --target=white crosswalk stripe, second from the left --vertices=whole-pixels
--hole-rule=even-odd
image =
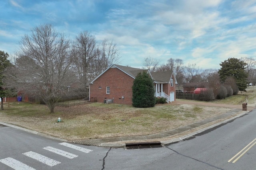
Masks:
[[[49,165],[49,166],[55,166],[55,165],[58,165],[60,164],[61,162],[58,162],[57,160],[54,160],[54,159],[51,159],[51,158],[48,158],[44,155],[41,155],[41,154],[38,154],[36,152],[26,152],[26,153],[23,153],[24,155],[30,157],[30,158],[33,158],[35,160],[38,160],[46,165]]]

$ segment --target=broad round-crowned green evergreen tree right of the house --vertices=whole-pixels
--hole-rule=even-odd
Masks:
[[[247,87],[248,73],[246,72],[246,63],[236,58],[229,58],[220,64],[221,68],[218,71],[222,82],[229,76],[236,80],[236,85],[240,91],[244,91]]]

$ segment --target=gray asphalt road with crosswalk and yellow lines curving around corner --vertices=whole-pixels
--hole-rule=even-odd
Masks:
[[[62,141],[0,125],[0,170],[255,170],[255,129],[254,110],[163,148],[125,150],[78,144],[70,148]],[[49,151],[52,148],[58,154]]]

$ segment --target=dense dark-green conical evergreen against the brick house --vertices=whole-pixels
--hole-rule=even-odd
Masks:
[[[156,104],[154,91],[152,78],[146,72],[139,73],[132,86],[132,106],[154,107]]]

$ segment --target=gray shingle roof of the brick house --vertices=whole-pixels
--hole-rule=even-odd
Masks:
[[[135,77],[138,75],[138,73],[146,71],[150,74],[154,82],[159,82],[159,83],[168,83],[172,77],[173,72],[172,71],[162,71],[162,72],[150,72],[149,70],[143,70],[140,68],[133,68],[133,67],[128,67],[128,66],[121,66],[117,64],[112,64],[110,67],[108,67],[104,72],[102,72],[100,75],[98,75],[94,80],[92,80],[91,84],[97,80],[102,74],[104,74],[107,70],[110,68],[118,68],[122,72],[128,74],[132,78],[135,79]],[[174,76],[175,78],[175,76]],[[177,80],[175,78],[175,83],[177,83]]]

